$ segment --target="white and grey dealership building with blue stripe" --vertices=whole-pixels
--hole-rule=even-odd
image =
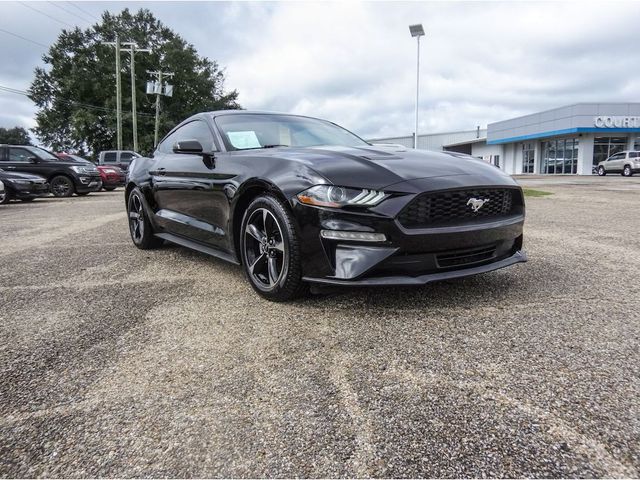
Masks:
[[[413,147],[411,136],[371,141]],[[614,153],[640,150],[640,103],[579,103],[490,123],[486,130],[419,135],[418,149],[467,153],[512,175],[591,175]]]

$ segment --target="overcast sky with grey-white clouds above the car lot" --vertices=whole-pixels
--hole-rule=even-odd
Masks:
[[[414,130],[412,23],[427,32],[420,133],[640,100],[637,1],[1,2],[0,29],[32,42],[0,30],[0,85],[26,90],[46,50],[38,43],[125,7],[150,9],[217,60],[244,108],[326,118],[366,138]],[[0,91],[0,126],[32,127],[34,112],[26,97]]]

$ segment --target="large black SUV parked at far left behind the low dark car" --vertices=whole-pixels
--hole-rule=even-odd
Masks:
[[[56,197],[86,195],[102,188],[95,165],[60,160],[38,147],[0,145],[0,168],[7,172],[34,173],[47,179]]]

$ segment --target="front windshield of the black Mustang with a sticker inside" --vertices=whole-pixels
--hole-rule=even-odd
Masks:
[[[215,119],[227,150],[339,145],[362,147],[367,142],[333,123],[277,114],[233,114]]]

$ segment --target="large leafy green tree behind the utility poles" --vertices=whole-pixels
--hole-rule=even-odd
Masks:
[[[153,149],[155,95],[146,95],[147,70],[174,72],[173,97],[161,97],[160,134],[197,112],[240,108],[238,92],[224,89],[224,71],[146,9],[105,12],[86,30],[63,30],[43,55],[29,97],[39,108],[36,136],[55,150],[97,154],[116,147],[115,48],[103,42],[136,42],[136,106],[141,152]],[[133,148],[129,55],[122,53],[123,147]]]

